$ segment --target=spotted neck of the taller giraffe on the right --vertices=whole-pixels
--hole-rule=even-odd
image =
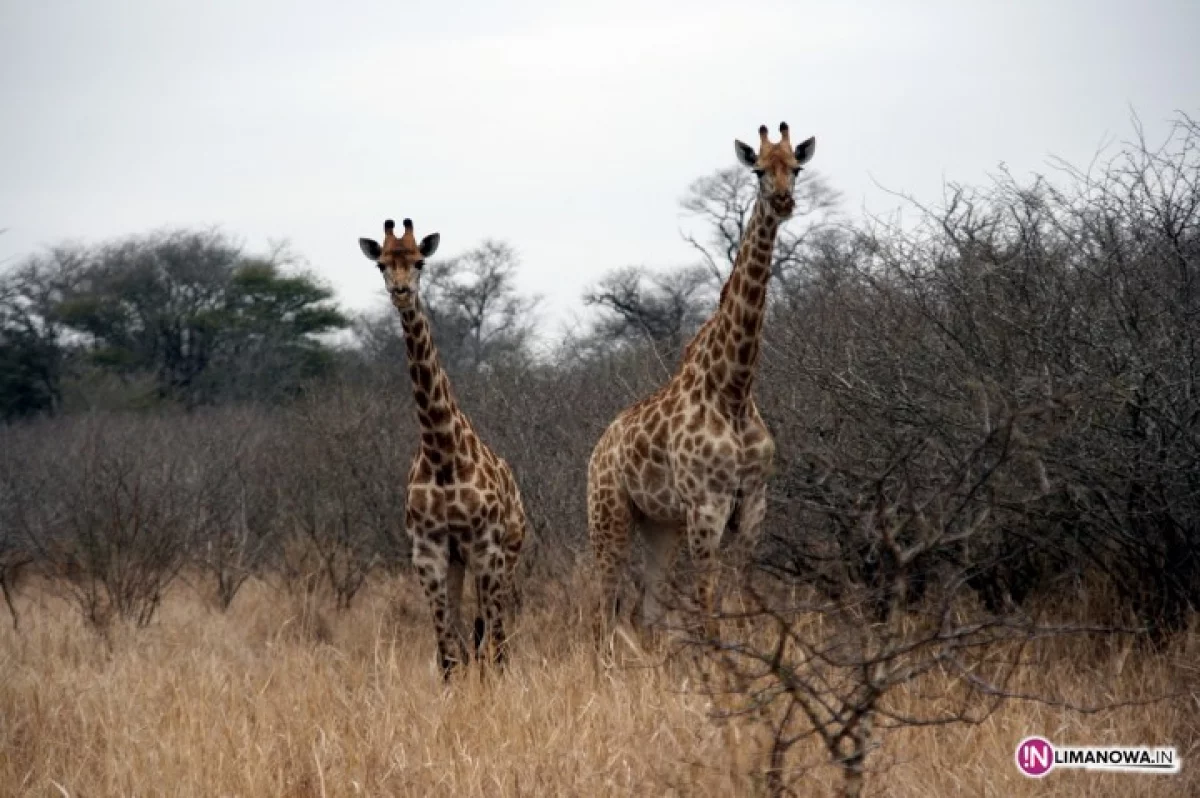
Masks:
[[[725,394],[734,403],[745,401],[754,385],[779,223],[779,216],[760,197],[742,236],[733,271],[721,287],[716,313],[690,353],[704,372],[709,389]]]

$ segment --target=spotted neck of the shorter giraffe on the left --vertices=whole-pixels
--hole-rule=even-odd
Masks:
[[[408,376],[413,378],[413,400],[421,427],[421,449],[434,466],[450,466],[462,438],[462,413],[450,390],[450,378],[438,360],[430,334],[430,322],[414,302],[400,311],[408,350]]]

